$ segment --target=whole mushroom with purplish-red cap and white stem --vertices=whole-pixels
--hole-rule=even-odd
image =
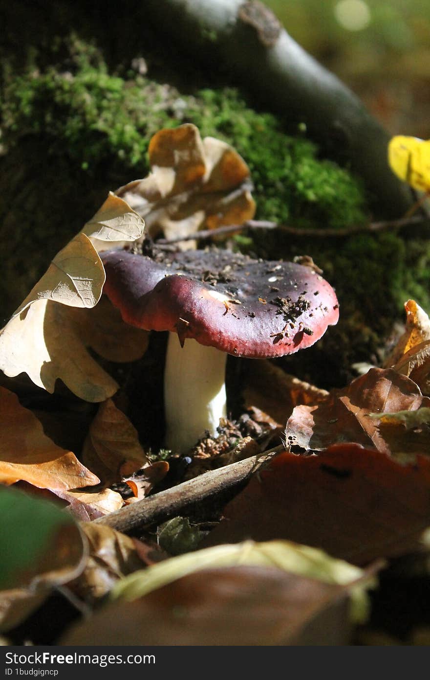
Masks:
[[[170,331],[165,445],[189,449],[226,417],[228,354],[267,358],[313,345],[338,322],[338,300],[315,269],[228,250],[102,254],[104,292],[128,324]]]

